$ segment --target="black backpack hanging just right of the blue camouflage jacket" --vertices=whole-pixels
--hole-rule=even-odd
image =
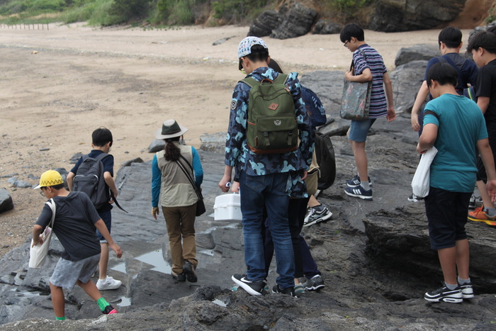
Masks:
[[[328,189],[336,179],[336,157],[331,138],[328,135],[320,132],[315,133],[315,156],[320,169],[318,189]]]

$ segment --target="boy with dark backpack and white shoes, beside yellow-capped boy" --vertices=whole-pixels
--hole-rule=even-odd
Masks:
[[[87,155],[79,158],[76,165],[67,175],[69,191],[84,191],[89,195],[98,215],[111,232],[113,199],[118,195],[117,187],[113,181],[113,156],[111,151],[113,138],[107,128],[98,128],[91,135],[91,147],[94,149]],[[102,178],[103,174],[103,178]],[[113,196],[111,196],[111,193]],[[99,263],[99,277],[96,282],[98,290],[113,290],[119,288],[121,281],[107,275],[108,267],[108,242],[97,230],[100,240],[101,258]]]

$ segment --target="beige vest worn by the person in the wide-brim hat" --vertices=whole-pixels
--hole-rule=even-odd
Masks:
[[[188,160],[189,164],[193,165],[191,146],[179,145],[179,142],[174,142],[174,145],[179,147],[181,155]],[[167,161],[164,155],[164,150],[157,152],[157,162],[159,169],[162,172],[159,198],[160,206],[170,208],[193,205],[198,201],[198,196],[196,196],[193,186],[188,181],[188,177],[186,177],[177,162]],[[195,176],[191,172],[191,168],[184,162],[184,159],[179,158],[179,160],[181,160],[184,168],[194,181]]]

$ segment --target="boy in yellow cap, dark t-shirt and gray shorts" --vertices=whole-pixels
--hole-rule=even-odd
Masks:
[[[108,242],[109,247],[117,254],[118,259],[123,252],[113,242],[103,220],[96,212],[93,204],[85,193],[69,192],[64,188],[62,176],[54,170],[48,170],[41,175],[41,194],[53,199],[56,206],[53,232],[64,247],[64,252],[55,266],[50,278],[50,293],[52,305],[57,320],[65,320],[64,292],[62,288],[72,289],[77,284],[98,303],[104,314],[115,314],[115,310],[100,294],[91,281],[91,274],[96,270],[100,261],[100,242],[96,237],[98,229]],[[52,209],[45,204],[40,217],[33,227],[33,246],[43,245],[40,235],[52,219]]]

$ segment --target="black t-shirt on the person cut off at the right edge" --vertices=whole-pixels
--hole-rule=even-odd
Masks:
[[[496,125],[496,60],[492,60],[479,69],[477,83],[475,83],[475,96],[489,98],[489,105],[485,111],[486,125]]]

